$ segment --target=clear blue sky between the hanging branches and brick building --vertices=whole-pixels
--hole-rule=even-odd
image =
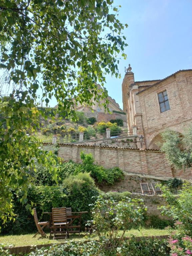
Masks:
[[[114,0],[128,47],[120,60],[121,79],[107,76],[106,88],[122,108],[124,67],[131,64],[135,81],[162,79],[192,68],[192,0]]]

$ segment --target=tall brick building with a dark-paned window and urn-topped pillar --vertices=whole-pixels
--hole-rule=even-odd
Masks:
[[[128,129],[144,136],[142,148],[159,149],[160,133],[169,128],[183,133],[192,122],[192,69],[161,80],[137,81],[131,67],[122,83],[123,111]]]

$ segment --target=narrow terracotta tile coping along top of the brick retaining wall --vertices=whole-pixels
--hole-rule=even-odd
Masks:
[[[52,143],[42,143],[43,145],[52,145]],[[158,149],[138,149],[138,148],[129,148],[129,147],[117,147],[117,146],[96,146],[89,144],[73,144],[73,143],[58,143],[59,146],[78,146],[78,147],[87,147],[87,148],[113,148],[113,149],[129,149],[129,150],[138,150],[138,151],[159,151]]]

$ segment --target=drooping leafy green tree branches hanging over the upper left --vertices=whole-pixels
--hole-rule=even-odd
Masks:
[[[51,153],[26,135],[39,127],[40,115],[50,115],[38,110],[37,102],[45,100],[48,106],[54,96],[58,111],[67,117],[75,114],[77,102],[91,107],[93,97],[106,98],[105,75],[118,76],[116,55],[122,52],[126,57],[126,44],[112,4],[112,0],[0,1],[1,96],[10,94],[0,107],[0,218],[5,222],[13,218],[12,189],[21,188],[21,202],[27,203],[34,157],[57,178]]]

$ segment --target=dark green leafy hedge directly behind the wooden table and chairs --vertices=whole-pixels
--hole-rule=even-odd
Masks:
[[[86,178],[84,178],[86,180]],[[89,204],[95,202],[99,195],[96,187],[87,186],[88,181],[84,182],[81,187],[73,187],[72,190],[64,186],[30,186],[28,190],[28,200],[34,203],[37,209],[39,220],[42,218],[42,212],[51,212],[52,208],[71,207],[72,211],[88,211],[82,215],[82,229],[85,227],[87,220],[91,218],[91,207]],[[18,196],[17,196],[18,198]],[[20,202],[15,198],[14,210],[16,213],[15,222],[9,221],[7,226],[2,226],[3,234],[24,234],[36,231],[34,217],[29,210],[21,207]],[[44,215],[43,220],[49,220],[49,216]]]

